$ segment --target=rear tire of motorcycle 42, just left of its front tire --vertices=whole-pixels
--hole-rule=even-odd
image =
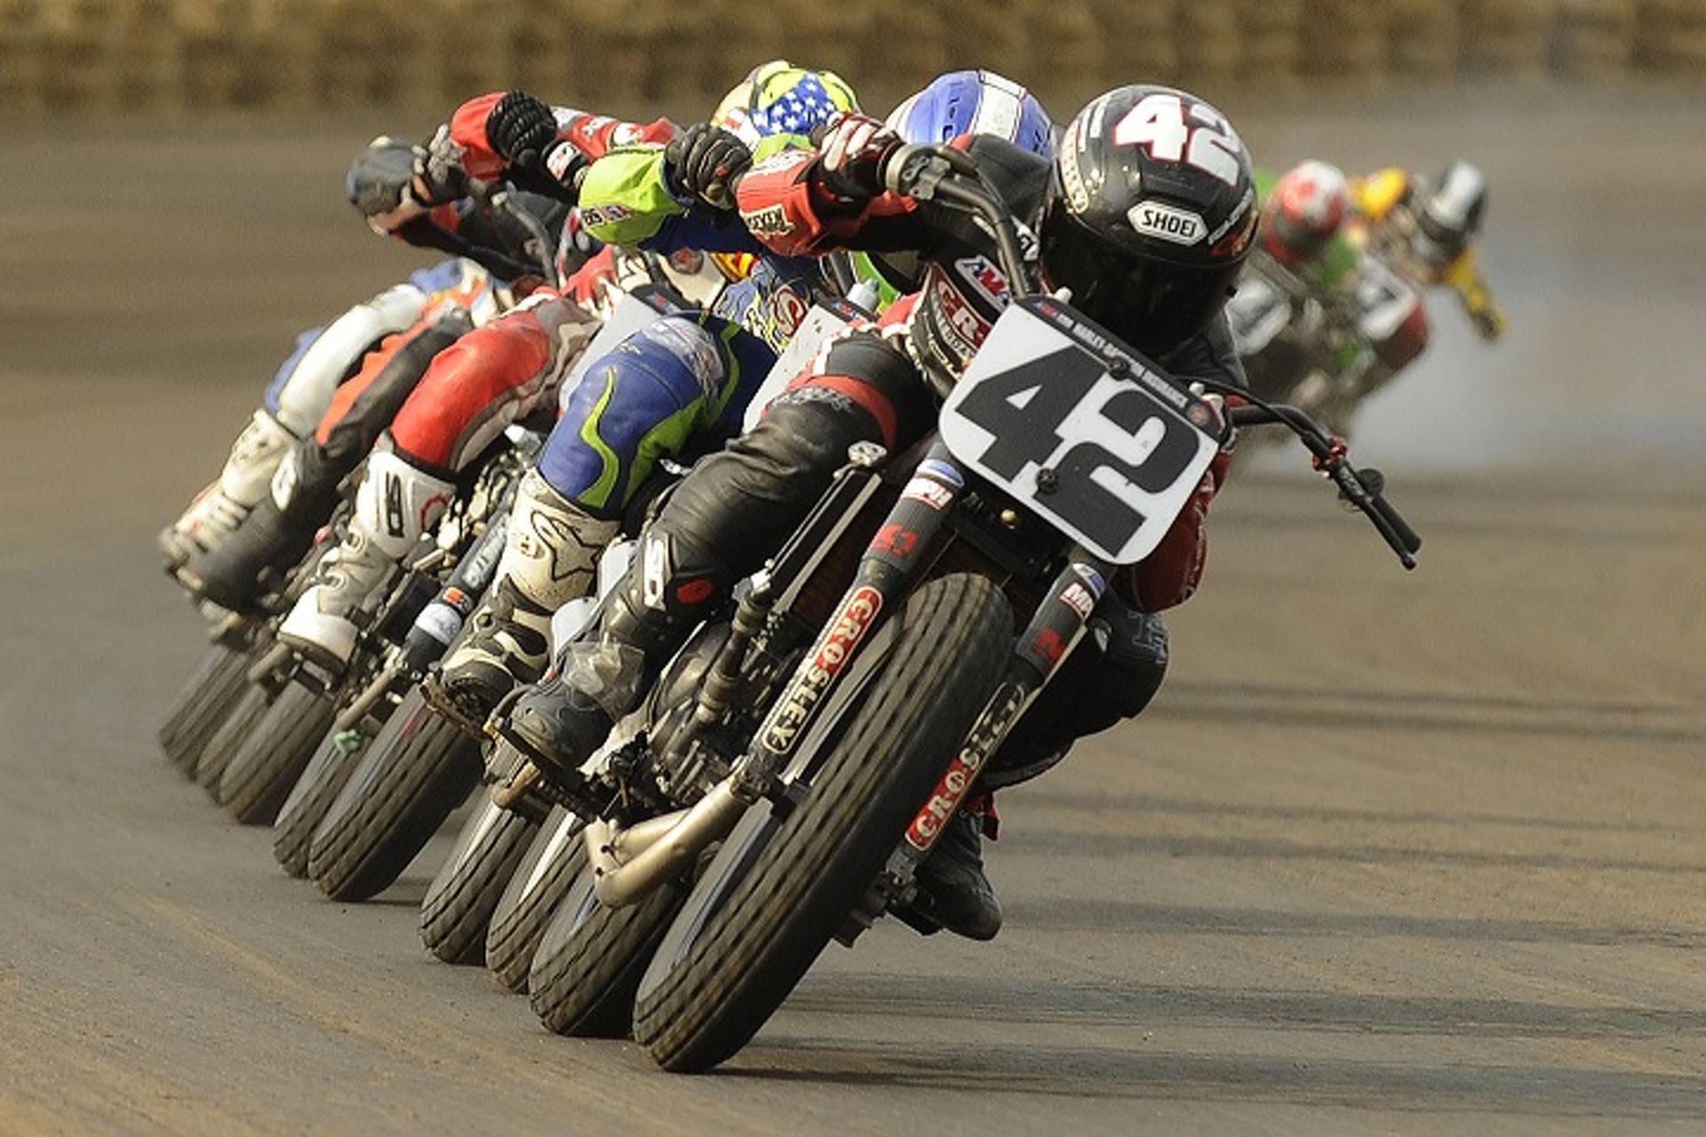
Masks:
[[[594,893],[587,864],[556,905],[534,949],[527,1002],[546,1030],[577,1038],[626,1038],[635,990],[686,890],[664,885],[638,903],[611,909]]]

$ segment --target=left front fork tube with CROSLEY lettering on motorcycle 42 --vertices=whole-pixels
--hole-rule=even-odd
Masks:
[[[925,564],[935,535],[966,489],[966,477],[938,442],[918,464],[899,499],[872,535],[853,583],[836,614],[824,624],[805,661],[793,672],[781,697],[771,704],[757,735],[734,772],[734,791],[744,801],[783,799],[778,777],[795,747],[829,701],[836,682],[870,641],[877,626],[904,595],[908,581]]]

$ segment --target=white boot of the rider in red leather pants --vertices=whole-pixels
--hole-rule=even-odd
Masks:
[[[341,672],[355,651],[351,617],[362,600],[438,522],[454,494],[456,482],[391,450],[374,450],[343,542],[321,561],[317,580],[278,626],[280,643]]]

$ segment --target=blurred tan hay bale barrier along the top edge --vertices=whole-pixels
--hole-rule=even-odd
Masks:
[[[1061,107],[1133,80],[1706,85],[1706,0],[0,0],[0,116],[442,111],[510,85],[691,116],[775,56],[870,106],[955,66]]]

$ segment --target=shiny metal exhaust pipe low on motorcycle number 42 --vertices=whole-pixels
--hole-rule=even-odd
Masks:
[[[652,895],[727,837],[746,808],[734,793],[734,777],[725,777],[689,810],[653,817],[621,832],[602,818],[590,822],[583,839],[599,903],[621,909]]]

